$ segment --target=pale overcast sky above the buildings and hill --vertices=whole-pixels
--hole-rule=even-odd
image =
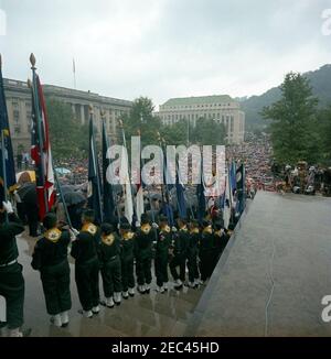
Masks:
[[[289,70],[331,63],[327,0],[0,0],[3,75],[154,105],[260,95]],[[0,17],[1,19],[1,17]],[[0,24],[1,26],[1,24]],[[331,28],[331,26],[330,26]]]

